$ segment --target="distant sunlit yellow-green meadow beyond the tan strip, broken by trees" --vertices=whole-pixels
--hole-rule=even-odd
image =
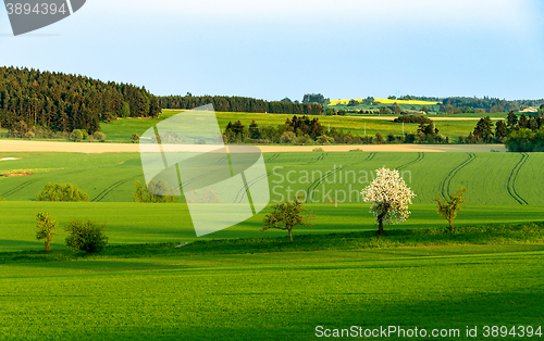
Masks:
[[[121,118],[111,123],[102,123],[101,128],[106,134],[107,140],[110,142],[132,142],[131,136],[133,132],[138,135],[144,134],[147,129],[156,125],[162,119],[171,117],[180,111],[163,111],[159,118]],[[215,113],[221,129],[225,129],[228,122],[240,121],[245,126],[249,126],[252,119],[260,127],[274,126],[284,124],[285,119],[293,118],[293,115],[284,114],[259,114],[259,113]],[[375,135],[380,131],[383,136],[393,132],[396,136],[403,135],[403,124],[391,121],[378,121],[372,118],[361,118],[357,116],[318,116],[325,129],[336,128],[344,131],[351,131],[354,135],[364,136]],[[461,117],[461,116],[455,116]],[[432,118],[432,115],[431,115]],[[417,132],[419,124],[405,124],[404,132]],[[460,135],[468,136],[474,129],[474,121],[455,121],[455,122],[435,122],[440,134],[447,136],[452,141],[457,141]],[[326,132],[325,132],[326,134]]]

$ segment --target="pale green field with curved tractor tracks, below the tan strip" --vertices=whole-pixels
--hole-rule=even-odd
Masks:
[[[2,153],[9,156],[21,160],[0,162],[0,174],[34,173],[0,177],[0,197],[9,201],[33,201],[52,181],[76,185],[94,202],[132,202],[135,181],[144,181],[135,153]],[[362,203],[358,192],[385,166],[403,172],[418,204],[466,187],[472,205],[544,205],[534,180],[544,167],[541,153],[307,152],[265,153],[264,159],[272,201],[299,192],[308,202],[329,203],[334,197],[341,203]]]

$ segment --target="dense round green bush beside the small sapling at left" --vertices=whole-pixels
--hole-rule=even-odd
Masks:
[[[66,237],[66,247],[74,251],[85,251],[96,253],[103,250],[108,244],[108,237],[104,233],[106,224],[97,225],[89,219],[72,219],[64,230],[70,235]]]

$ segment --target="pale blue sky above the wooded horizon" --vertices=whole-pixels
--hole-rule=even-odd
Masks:
[[[0,66],[265,100],[544,98],[540,0],[88,0],[14,37]]]

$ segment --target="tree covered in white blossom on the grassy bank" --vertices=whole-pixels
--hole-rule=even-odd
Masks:
[[[396,169],[376,169],[376,178],[361,191],[364,202],[371,202],[370,212],[374,214],[378,224],[378,236],[383,235],[384,224],[405,222],[410,215],[408,204],[416,197],[406,186],[405,180]]]

